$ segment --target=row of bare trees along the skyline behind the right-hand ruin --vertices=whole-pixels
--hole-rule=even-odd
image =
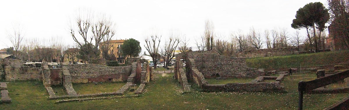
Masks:
[[[311,29],[310,29],[311,30]],[[315,34],[314,34],[315,32]],[[205,22],[204,34],[196,39],[195,44],[198,51],[215,50],[220,54],[230,56],[233,53],[242,52],[244,50],[263,49],[263,48],[284,48],[288,46],[299,47],[304,45],[304,49],[312,48],[311,42],[317,42],[319,49],[326,49],[325,47],[325,31],[316,29],[309,32],[311,39],[304,38],[299,30],[290,33],[288,28],[274,28],[265,29],[261,31],[251,27],[247,33],[241,29],[231,33],[230,37],[219,33],[214,33],[214,25],[207,20]],[[316,38],[316,39],[312,39]]]

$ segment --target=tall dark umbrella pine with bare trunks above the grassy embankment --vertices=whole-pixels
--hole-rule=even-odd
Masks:
[[[308,28],[312,27],[314,33],[315,28],[318,28],[320,31],[324,31],[324,29],[326,28],[325,23],[328,20],[328,9],[326,9],[321,2],[311,2],[305,5],[303,8],[298,9],[298,11],[296,12],[296,19],[293,19],[291,27],[295,29],[306,28],[310,45],[312,45]],[[319,47],[316,42],[316,34],[314,34],[313,39],[315,39],[315,49],[316,51],[318,51]]]

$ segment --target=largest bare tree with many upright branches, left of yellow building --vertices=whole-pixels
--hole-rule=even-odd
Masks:
[[[75,31],[79,35],[75,35]],[[98,57],[100,53],[98,46],[101,41],[110,40],[115,35],[115,23],[105,14],[94,14],[86,10],[78,11],[74,24],[70,25],[70,35],[79,44],[82,55],[89,61],[90,58]],[[92,49],[86,48],[89,46],[92,46],[90,47]]]

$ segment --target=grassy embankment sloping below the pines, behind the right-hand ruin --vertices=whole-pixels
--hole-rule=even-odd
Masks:
[[[246,59],[247,67],[252,68],[295,68],[343,64],[349,64],[348,50]]]

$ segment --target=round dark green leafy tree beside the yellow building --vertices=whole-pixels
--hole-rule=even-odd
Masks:
[[[135,39],[128,39],[124,41],[124,44],[121,45],[122,55],[125,57],[138,57],[139,53],[141,53],[141,46],[139,45],[139,41]]]

